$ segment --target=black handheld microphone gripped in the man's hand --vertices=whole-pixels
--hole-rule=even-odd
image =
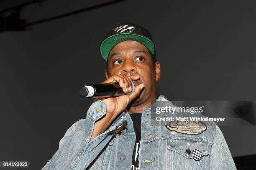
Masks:
[[[134,84],[132,82],[132,91],[134,91]],[[130,94],[131,92],[126,93],[126,95]],[[82,97],[90,97],[90,98],[97,98],[97,97],[111,97],[111,96],[120,96],[125,95],[123,92],[122,87],[120,87],[119,83],[104,83],[104,84],[89,84],[85,85],[79,90],[79,94]]]

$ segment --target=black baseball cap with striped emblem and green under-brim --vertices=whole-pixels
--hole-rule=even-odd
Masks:
[[[151,37],[151,33],[139,25],[133,23],[121,24],[113,28],[105,37],[100,45],[100,54],[107,61],[108,55],[115,45],[120,42],[133,40],[145,45],[148,50],[154,55],[155,45]]]

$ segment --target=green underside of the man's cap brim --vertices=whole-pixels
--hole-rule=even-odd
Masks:
[[[115,47],[115,45],[117,45],[118,43],[127,41],[127,40],[140,42],[141,44],[145,45],[153,55],[155,54],[154,43],[148,38],[143,37],[141,35],[136,35],[136,34],[120,33],[120,34],[115,34],[106,38],[101,43],[100,54],[102,58],[105,61],[107,61],[109,52],[112,50],[112,48]]]

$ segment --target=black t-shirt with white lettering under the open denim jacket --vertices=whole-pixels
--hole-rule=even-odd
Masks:
[[[132,113],[130,114],[133,121],[133,128],[136,133],[136,141],[133,149],[132,158],[132,170],[138,170],[139,163],[139,151],[140,151],[140,140],[141,140],[141,115],[142,113]]]

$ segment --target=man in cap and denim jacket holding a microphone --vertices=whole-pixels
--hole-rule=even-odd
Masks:
[[[213,122],[151,123],[152,103],[174,105],[156,96],[161,70],[148,30],[120,25],[105,37],[100,53],[107,62],[102,83],[118,82],[128,93],[133,82],[134,92],[95,100],[86,119],[67,130],[43,170],[236,169]]]

